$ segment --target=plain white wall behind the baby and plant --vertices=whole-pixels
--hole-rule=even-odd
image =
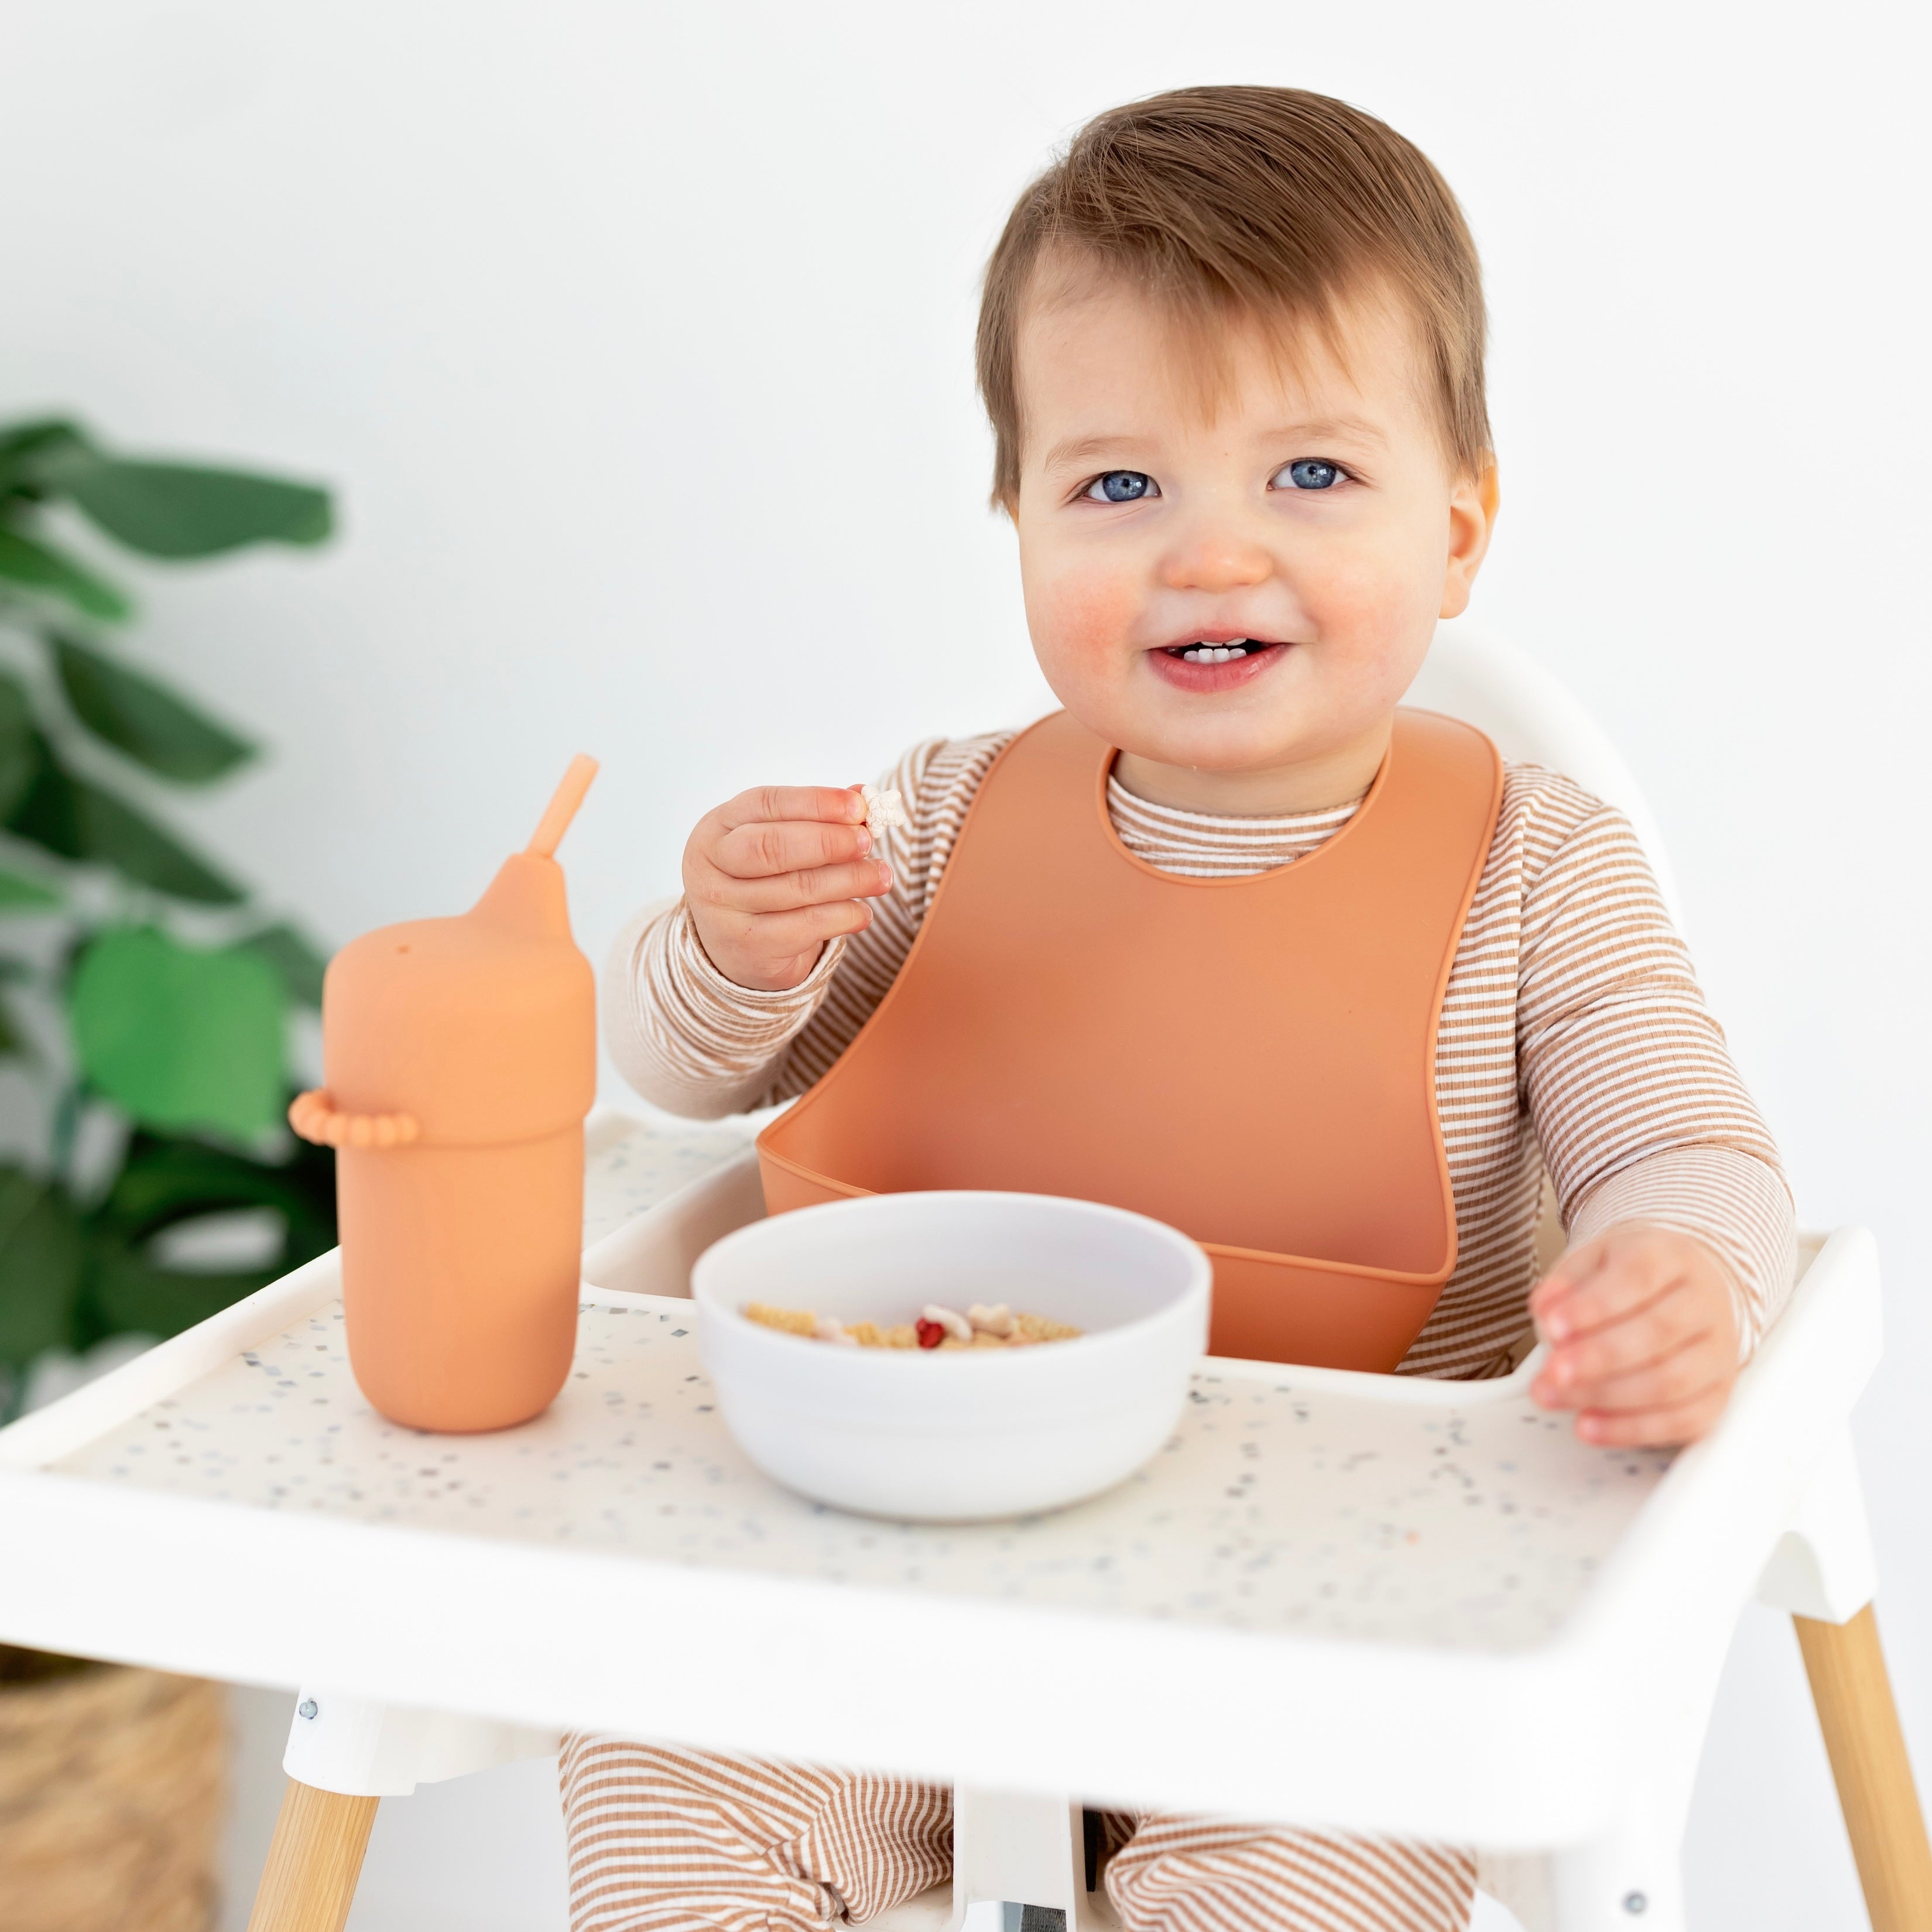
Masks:
[[[1924,56],[1843,0],[10,0],[0,412],[342,491],[325,556],[147,580],[276,746],[213,844],[340,941],[454,910],[582,746],[595,952],[740,784],[1045,707],[970,327],[1049,147],[1196,79],[1387,116],[1488,261],[1474,614],[1625,746],[1803,1213],[1886,1246],[1861,1443],[1932,1772]],[[1770,1619],[1690,1859],[1714,1932],[1859,1922]]]

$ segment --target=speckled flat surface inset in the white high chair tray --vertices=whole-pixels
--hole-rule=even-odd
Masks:
[[[622,1298],[620,1298],[622,1300]],[[255,1509],[1254,1631],[1517,1650],[1549,1636],[1667,1457],[1586,1449],[1520,1399],[1435,1408],[1196,1378],[1167,1449],[1014,1522],[873,1522],[726,1435],[688,1308],[585,1302],[553,1408],[423,1435],[355,1391],[340,1304],[58,1463]]]

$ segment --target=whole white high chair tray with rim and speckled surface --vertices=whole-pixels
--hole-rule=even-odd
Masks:
[[[1507,1814],[1559,1843],[1673,1721],[1665,1660],[1721,1654],[1878,1350],[1847,1231],[1808,1244],[1718,1435],[1675,1459],[1582,1447],[1530,1366],[1208,1358],[1115,1492],[879,1522],[771,1484],[711,1401],[680,1296],[761,1211],[742,1130],[603,1121],[589,1177],[578,1358],[524,1428],[377,1416],[330,1254],[0,1432],[0,1640],[991,1785],[1018,1756],[1090,1801],[1492,1843]],[[1588,1743],[1563,1776],[1555,1710]],[[1459,1776],[1472,1750],[1520,1770]]]

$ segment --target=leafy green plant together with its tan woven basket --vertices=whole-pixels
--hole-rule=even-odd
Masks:
[[[37,1360],[172,1335],[334,1242],[332,1157],[282,1124],[323,962],[149,802],[259,748],[124,651],[133,605],[77,554],[85,526],[207,558],[321,543],[330,500],[0,425],[0,1066],[33,1115],[0,1159],[0,1420]],[[236,1217],[267,1225],[259,1252],[197,1254]],[[220,1770],[216,1687],[0,1646],[0,1924],[124,1926],[139,1903],[199,1932]]]

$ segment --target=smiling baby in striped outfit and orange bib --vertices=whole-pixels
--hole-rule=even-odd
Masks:
[[[1791,1279],[1776,1150],[1627,821],[1397,709],[1497,514],[1441,178],[1318,95],[1117,108],[1012,211],[978,355],[1065,713],[916,746],[902,825],[835,786],[709,813],[612,956],[626,1076],[686,1115],[810,1094],[819,1142],[840,1082],[933,1082],[951,1142],[908,1105],[895,1157],[1177,1221],[1217,1347],[1478,1378],[1540,1331],[1534,1395],[1586,1443],[1704,1434]],[[981,1092],[1014,1105],[976,1140]],[[1387,1161],[1321,1179],[1381,1094]],[[580,1737],[564,1791],[580,1932],[860,1920],[949,1866],[949,1795],[910,1779]],[[1130,1928],[1459,1932],[1474,1891],[1461,1849],[1264,1820],[1109,1845]]]

